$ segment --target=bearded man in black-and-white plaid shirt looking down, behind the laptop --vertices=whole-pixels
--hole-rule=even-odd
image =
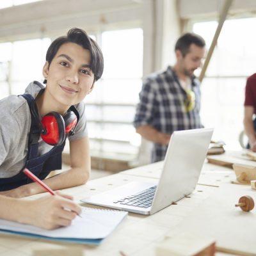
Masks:
[[[186,33],[175,44],[177,61],[148,76],[140,92],[134,127],[152,141],[152,163],[164,159],[173,131],[201,128],[200,83],[194,76],[205,54],[204,39]]]

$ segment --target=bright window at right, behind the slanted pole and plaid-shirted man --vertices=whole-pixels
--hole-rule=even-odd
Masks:
[[[217,22],[197,22],[193,31],[205,38],[209,48]],[[246,77],[256,72],[256,35],[250,29],[256,19],[226,20],[202,83],[202,122],[214,127],[214,139],[228,149],[239,149],[243,130]]]

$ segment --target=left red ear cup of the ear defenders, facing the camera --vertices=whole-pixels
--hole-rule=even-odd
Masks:
[[[45,143],[56,146],[65,141],[65,122],[60,113],[48,113],[42,118],[41,123],[46,130],[46,134],[41,134]]]

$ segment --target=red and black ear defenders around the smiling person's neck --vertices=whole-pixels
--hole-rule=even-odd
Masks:
[[[44,89],[40,90],[36,98],[43,92]],[[31,104],[31,113],[38,122],[42,140],[52,146],[61,145],[65,141],[66,134],[73,135],[79,121],[79,113],[74,106],[71,106],[63,116],[52,111],[40,120],[36,99]]]

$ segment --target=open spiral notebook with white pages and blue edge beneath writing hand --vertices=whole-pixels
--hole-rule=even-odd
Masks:
[[[83,244],[99,244],[124,220],[125,211],[93,209],[83,207],[81,217],[77,216],[72,225],[55,230],[45,230],[13,221],[0,220],[0,232],[20,236],[38,237],[57,241]]]

